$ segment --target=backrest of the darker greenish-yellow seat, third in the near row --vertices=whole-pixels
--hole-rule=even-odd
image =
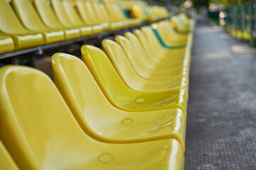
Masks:
[[[95,81],[97,81],[98,86],[100,86],[100,89],[105,96],[107,96],[108,100],[122,106],[122,102],[125,101],[124,96],[129,96],[129,89],[124,84],[121,77],[119,77],[119,74],[112,66],[107,55],[99,48],[90,45],[82,46],[81,52],[82,61],[85,62],[88,69],[90,69],[92,76],[95,78]],[[124,98],[121,97],[117,91],[122,92]],[[129,101],[126,102],[129,103]]]

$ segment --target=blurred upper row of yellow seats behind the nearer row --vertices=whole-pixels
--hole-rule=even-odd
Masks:
[[[159,13],[151,13],[158,18]],[[0,0],[0,54],[105,30],[138,26],[119,4],[93,0]]]

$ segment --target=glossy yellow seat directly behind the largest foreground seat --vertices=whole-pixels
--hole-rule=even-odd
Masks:
[[[142,112],[119,110],[107,101],[92,74],[78,57],[56,53],[52,64],[54,81],[60,93],[82,130],[96,140],[128,143],[174,138],[185,149],[186,118],[181,109]]]

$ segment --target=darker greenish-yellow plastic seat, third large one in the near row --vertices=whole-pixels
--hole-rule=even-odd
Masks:
[[[145,93],[130,89],[97,47],[84,45],[81,48],[85,62],[107,99],[123,111],[154,111],[164,108],[181,108],[186,114],[188,98],[184,89],[173,89],[169,93],[157,91]]]

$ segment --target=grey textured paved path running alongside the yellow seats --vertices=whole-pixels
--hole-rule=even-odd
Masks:
[[[186,169],[256,169],[256,50],[199,20],[191,62]]]

